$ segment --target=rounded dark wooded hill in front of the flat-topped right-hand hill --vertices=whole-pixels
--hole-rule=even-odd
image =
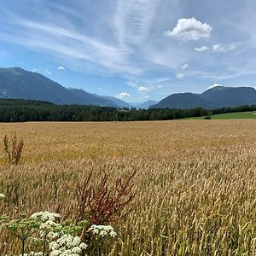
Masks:
[[[212,102],[209,102],[201,96],[193,93],[177,93],[167,96],[165,99],[161,100],[155,105],[150,106],[150,108],[218,108],[218,106]]]

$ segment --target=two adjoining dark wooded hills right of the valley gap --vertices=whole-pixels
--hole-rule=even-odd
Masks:
[[[256,90],[251,87],[217,86],[201,94],[177,93],[150,108],[224,108],[256,104]]]

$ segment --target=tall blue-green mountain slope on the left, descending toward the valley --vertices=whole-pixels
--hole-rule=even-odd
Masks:
[[[0,97],[61,105],[79,104],[117,108],[117,105],[110,100],[92,96],[84,90],[68,90],[40,73],[29,72],[20,67],[0,68]]]

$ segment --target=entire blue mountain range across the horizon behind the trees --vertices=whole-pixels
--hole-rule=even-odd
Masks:
[[[160,102],[128,103],[113,96],[99,96],[81,89],[67,89],[40,73],[26,71],[20,67],[2,67],[0,98],[112,108],[224,108],[256,104],[256,90],[252,87],[216,86],[201,94],[189,92],[172,94]]]

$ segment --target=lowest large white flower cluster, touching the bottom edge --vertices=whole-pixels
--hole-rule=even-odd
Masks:
[[[57,241],[49,243],[52,250],[50,256],[79,256],[87,245],[80,241],[79,236],[71,236],[70,234],[62,235]]]

